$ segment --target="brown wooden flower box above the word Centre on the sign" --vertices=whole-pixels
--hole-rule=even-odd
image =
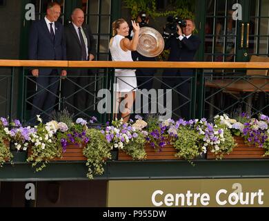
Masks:
[[[150,144],[146,144],[145,151],[147,155],[144,160],[179,160],[178,157],[175,157],[177,150],[171,144],[166,144],[160,151],[155,151]],[[132,160],[132,157],[119,150],[118,160]]]

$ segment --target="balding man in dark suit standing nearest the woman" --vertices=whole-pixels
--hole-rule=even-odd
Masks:
[[[95,41],[90,31],[90,27],[83,25],[84,12],[80,8],[75,8],[71,16],[72,22],[65,27],[66,57],[70,61],[92,61],[95,55]],[[83,111],[87,111],[88,81],[87,69],[70,69],[68,78],[63,81],[64,106],[69,113],[83,116]],[[92,84],[91,84],[92,85]],[[84,115],[85,116],[85,115]]]

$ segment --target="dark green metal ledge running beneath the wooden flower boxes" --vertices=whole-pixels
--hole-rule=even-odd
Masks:
[[[103,175],[94,180],[168,180],[269,177],[269,160],[108,161]],[[86,162],[51,162],[34,172],[31,164],[5,164],[0,181],[88,180]]]

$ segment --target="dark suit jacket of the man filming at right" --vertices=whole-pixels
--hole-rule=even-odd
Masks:
[[[196,35],[191,35],[188,39],[184,37],[182,41],[170,37],[166,41],[166,49],[170,49],[168,61],[193,61],[200,43]]]

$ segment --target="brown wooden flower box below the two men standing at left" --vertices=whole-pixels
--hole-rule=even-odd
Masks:
[[[83,155],[83,145],[68,144],[66,151],[62,153],[62,157],[55,157],[52,161],[86,161]],[[28,148],[28,156],[32,154],[32,149]]]

